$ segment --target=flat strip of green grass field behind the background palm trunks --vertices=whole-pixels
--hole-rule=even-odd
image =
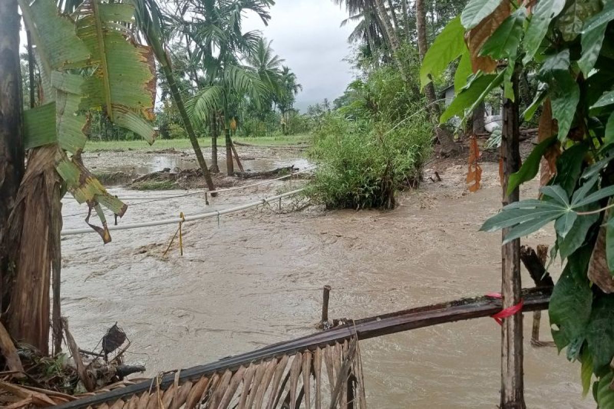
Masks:
[[[311,136],[308,134],[298,135],[279,135],[272,137],[257,137],[257,138],[242,138],[235,137],[233,140],[239,143],[248,143],[255,146],[292,146],[311,142]],[[218,139],[218,147],[223,147],[223,137]],[[211,147],[211,138],[199,138],[198,143],[201,148]],[[153,145],[144,140],[105,140],[101,142],[88,140],[85,145],[85,150],[90,152],[95,151],[159,151],[166,149],[188,150],[192,149],[192,143],[189,139],[158,139]]]

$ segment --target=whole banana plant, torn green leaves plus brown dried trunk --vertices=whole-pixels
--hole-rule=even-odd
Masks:
[[[70,15],[54,0],[18,4],[36,45],[43,98],[23,117],[28,166],[4,237],[12,277],[2,316],[12,337],[46,354],[52,276],[55,350],[61,346],[61,197],[68,190],[87,203],[90,213],[95,210],[102,226],[90,224],[90,213],[85,221],[105,243],[111,236],[102,207],[119,216],[126,212],[126,205],[107,193],[82,162],[91,112],[103,112],[152,143],[155,66],[150,48],[139,45],[129,29],[134,24],[131,4],[84,0]]]

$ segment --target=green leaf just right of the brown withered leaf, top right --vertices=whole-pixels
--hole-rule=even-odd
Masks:
[[[526,8],[519,7],[518,10],[503,20],[503,23],[497,27],[482,46],[480,55],[488,55],[493,59],[516,59],[518,45],[523,35],[526,13]]]

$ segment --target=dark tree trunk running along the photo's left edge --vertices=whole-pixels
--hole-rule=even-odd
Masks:
[[[17,0],[0,1],[0,21],[0,314],[6,323],[4,312],[10,304],[12,279],[7,248],[10,242],[5,237],[24,163]]]

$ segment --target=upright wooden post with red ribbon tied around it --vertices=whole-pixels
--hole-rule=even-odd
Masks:
[[[518,69],[511,78],[515,101],[504,98],[501,160],[503,161],[503,206],[519,200],[519,189],[507,192],[510,175],[520,167],[518,123]],[[503,237],[509,229],[503,229]],[[501,294],[503,308],[521,302],[520,240],[503,245],[501,252]],[[503,319],[501,327],[501,401],[502,409],[524,409],[523,314]]]

